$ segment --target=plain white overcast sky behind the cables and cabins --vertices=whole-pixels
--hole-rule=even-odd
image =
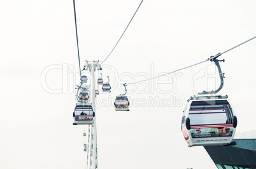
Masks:
[[[76,0],[81,60],[103,60],[140,2]],[[144,1],[104,66],[139,81],[145,79],[139,72],[150,77],[201,62],[256,36],[255,6],[255,1]],[[85,126],[72,125],[73,84],[78,84],[72,77],[79,72],[73,1],[4,1],[0,16],[0,168],[84,168]],[[236,110],[238,133],[255,130],[255,55],[256,39],[220,57],[226,76],[220,94],[229,95]],[[56,90],[64,86],[62,93],[41,86],[50,65],[75,67],[68,69],[68,83],[62,82],[64,69],[48,72],[46,84]],[[199,78],[206,69],[210,76]],[[153,88],[129,85],[131,99],[147,102],[132,105],[130,112],[115,112],[113,101],[97,105],[99,168],[216,168],[203,147],[187,147],[180,129],[187,98],[218,88],[214,71],[206,62],[177,72],[181,76],[175,81],[159,85],[171,90],[167,94],[152,81],[147,83]],[[103,71],[105,81],[108,74],[112,86],[120,83],[110,69]],[[112,98],[120,94],[113,89]],[[176,104],[150,106],[150,97]],[[99,102],[108,98],[97,97]]]

